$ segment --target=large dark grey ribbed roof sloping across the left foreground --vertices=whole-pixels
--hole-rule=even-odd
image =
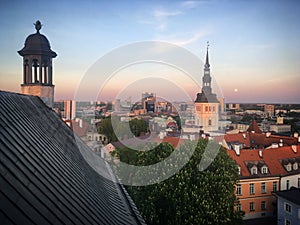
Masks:
[[[0,92],[0,224],[144,224],[124,187],[38,97]],[[98,169],[113,176],[99,158]]]

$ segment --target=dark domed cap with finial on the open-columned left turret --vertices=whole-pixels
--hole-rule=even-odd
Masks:
[[[22,48],[18,53],[21,56],[24,55],[47,55],[52,58],[56,57],[57,54],[51,50],[50,43],[48,39],[40,34],[40,29],[42,25],[40,21],[35,23],[36,33],[29,35],[24,44],[24,48]]]

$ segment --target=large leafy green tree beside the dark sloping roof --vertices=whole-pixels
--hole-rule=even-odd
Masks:
[[[126,187],[147,224],[241,223],[242,215],[234,209],[237,167],[226,150],[221,147],[211,165],[199,171],[207,143],[207,140],[196,143],[191,159],[169,179],[148,186]],[[186,142],[175,150],[178,157],[185,157],[185,150],[189,151],[190,146]],[[113,154],[129,164],[150,165],[162,161],[173,151],[171,145],[162,143],[150,151],[117,149]]]

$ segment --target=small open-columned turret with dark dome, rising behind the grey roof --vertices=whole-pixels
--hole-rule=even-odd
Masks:
[[[23,56],[22,94],[39,96],[46,105],[53,107],[54,85],[52,58],[57,54],[51,50],[48,39],[40,34],[42,24],[36,21],[36,33],[25,40],[24,48],[18,53]]]

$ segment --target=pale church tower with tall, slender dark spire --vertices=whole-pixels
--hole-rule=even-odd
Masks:
[[[202,77],[202,91],[197,94],[195,100],[195,125],[200,126],[204,132],[219,129],[219,101],[216,94],[212,92],[210,65],[208,57],[208,43]]]

